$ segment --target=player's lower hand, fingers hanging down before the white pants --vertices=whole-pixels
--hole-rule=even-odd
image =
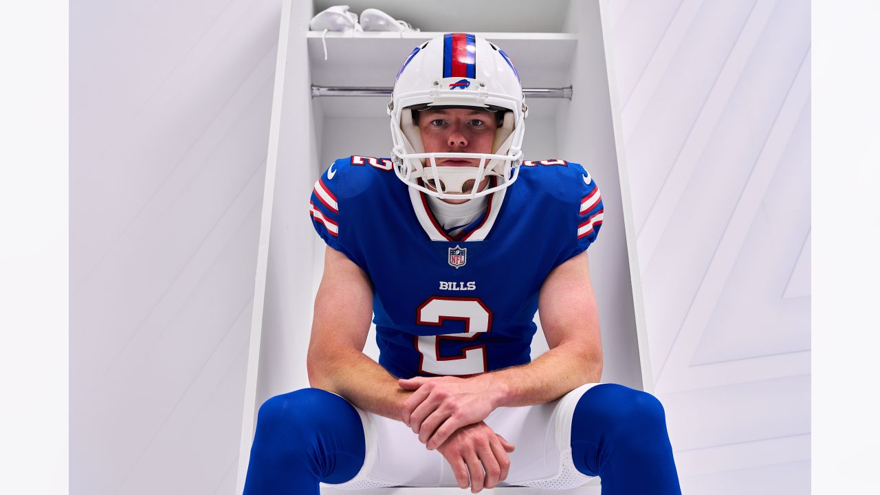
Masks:
[[[513,449],[512,443],[482,421],[458,428],[437,447],[455,473],[458,487],[465,489],[470,485],[472,493],[495,488],[507,478],[510,471],[507,454]]]

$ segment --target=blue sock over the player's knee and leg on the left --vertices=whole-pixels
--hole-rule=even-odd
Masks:
[[[365,454],[363,425],[339,395],[303,388],[260,406],[245,495],[319,495],[319,482],[355,477]]]

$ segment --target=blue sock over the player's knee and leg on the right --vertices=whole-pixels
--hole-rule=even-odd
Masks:
[[[602,480],[603,495],[680,495],[663,405],[616,383],[583,393],[571,425],[575,467]]]

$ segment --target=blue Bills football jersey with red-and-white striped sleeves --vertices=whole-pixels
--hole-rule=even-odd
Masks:
[[[379,364],[411,378],[528,363],[541,284],[596,240],[604,206],[583,166],[526,161],[456,239],[390,159],[353,156],[320,176],[309,210],[327,245],[370,277]]]

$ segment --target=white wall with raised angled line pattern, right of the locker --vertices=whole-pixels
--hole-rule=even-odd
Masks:
[[[809,493],[810,3],[608,9],[682,487]]]

